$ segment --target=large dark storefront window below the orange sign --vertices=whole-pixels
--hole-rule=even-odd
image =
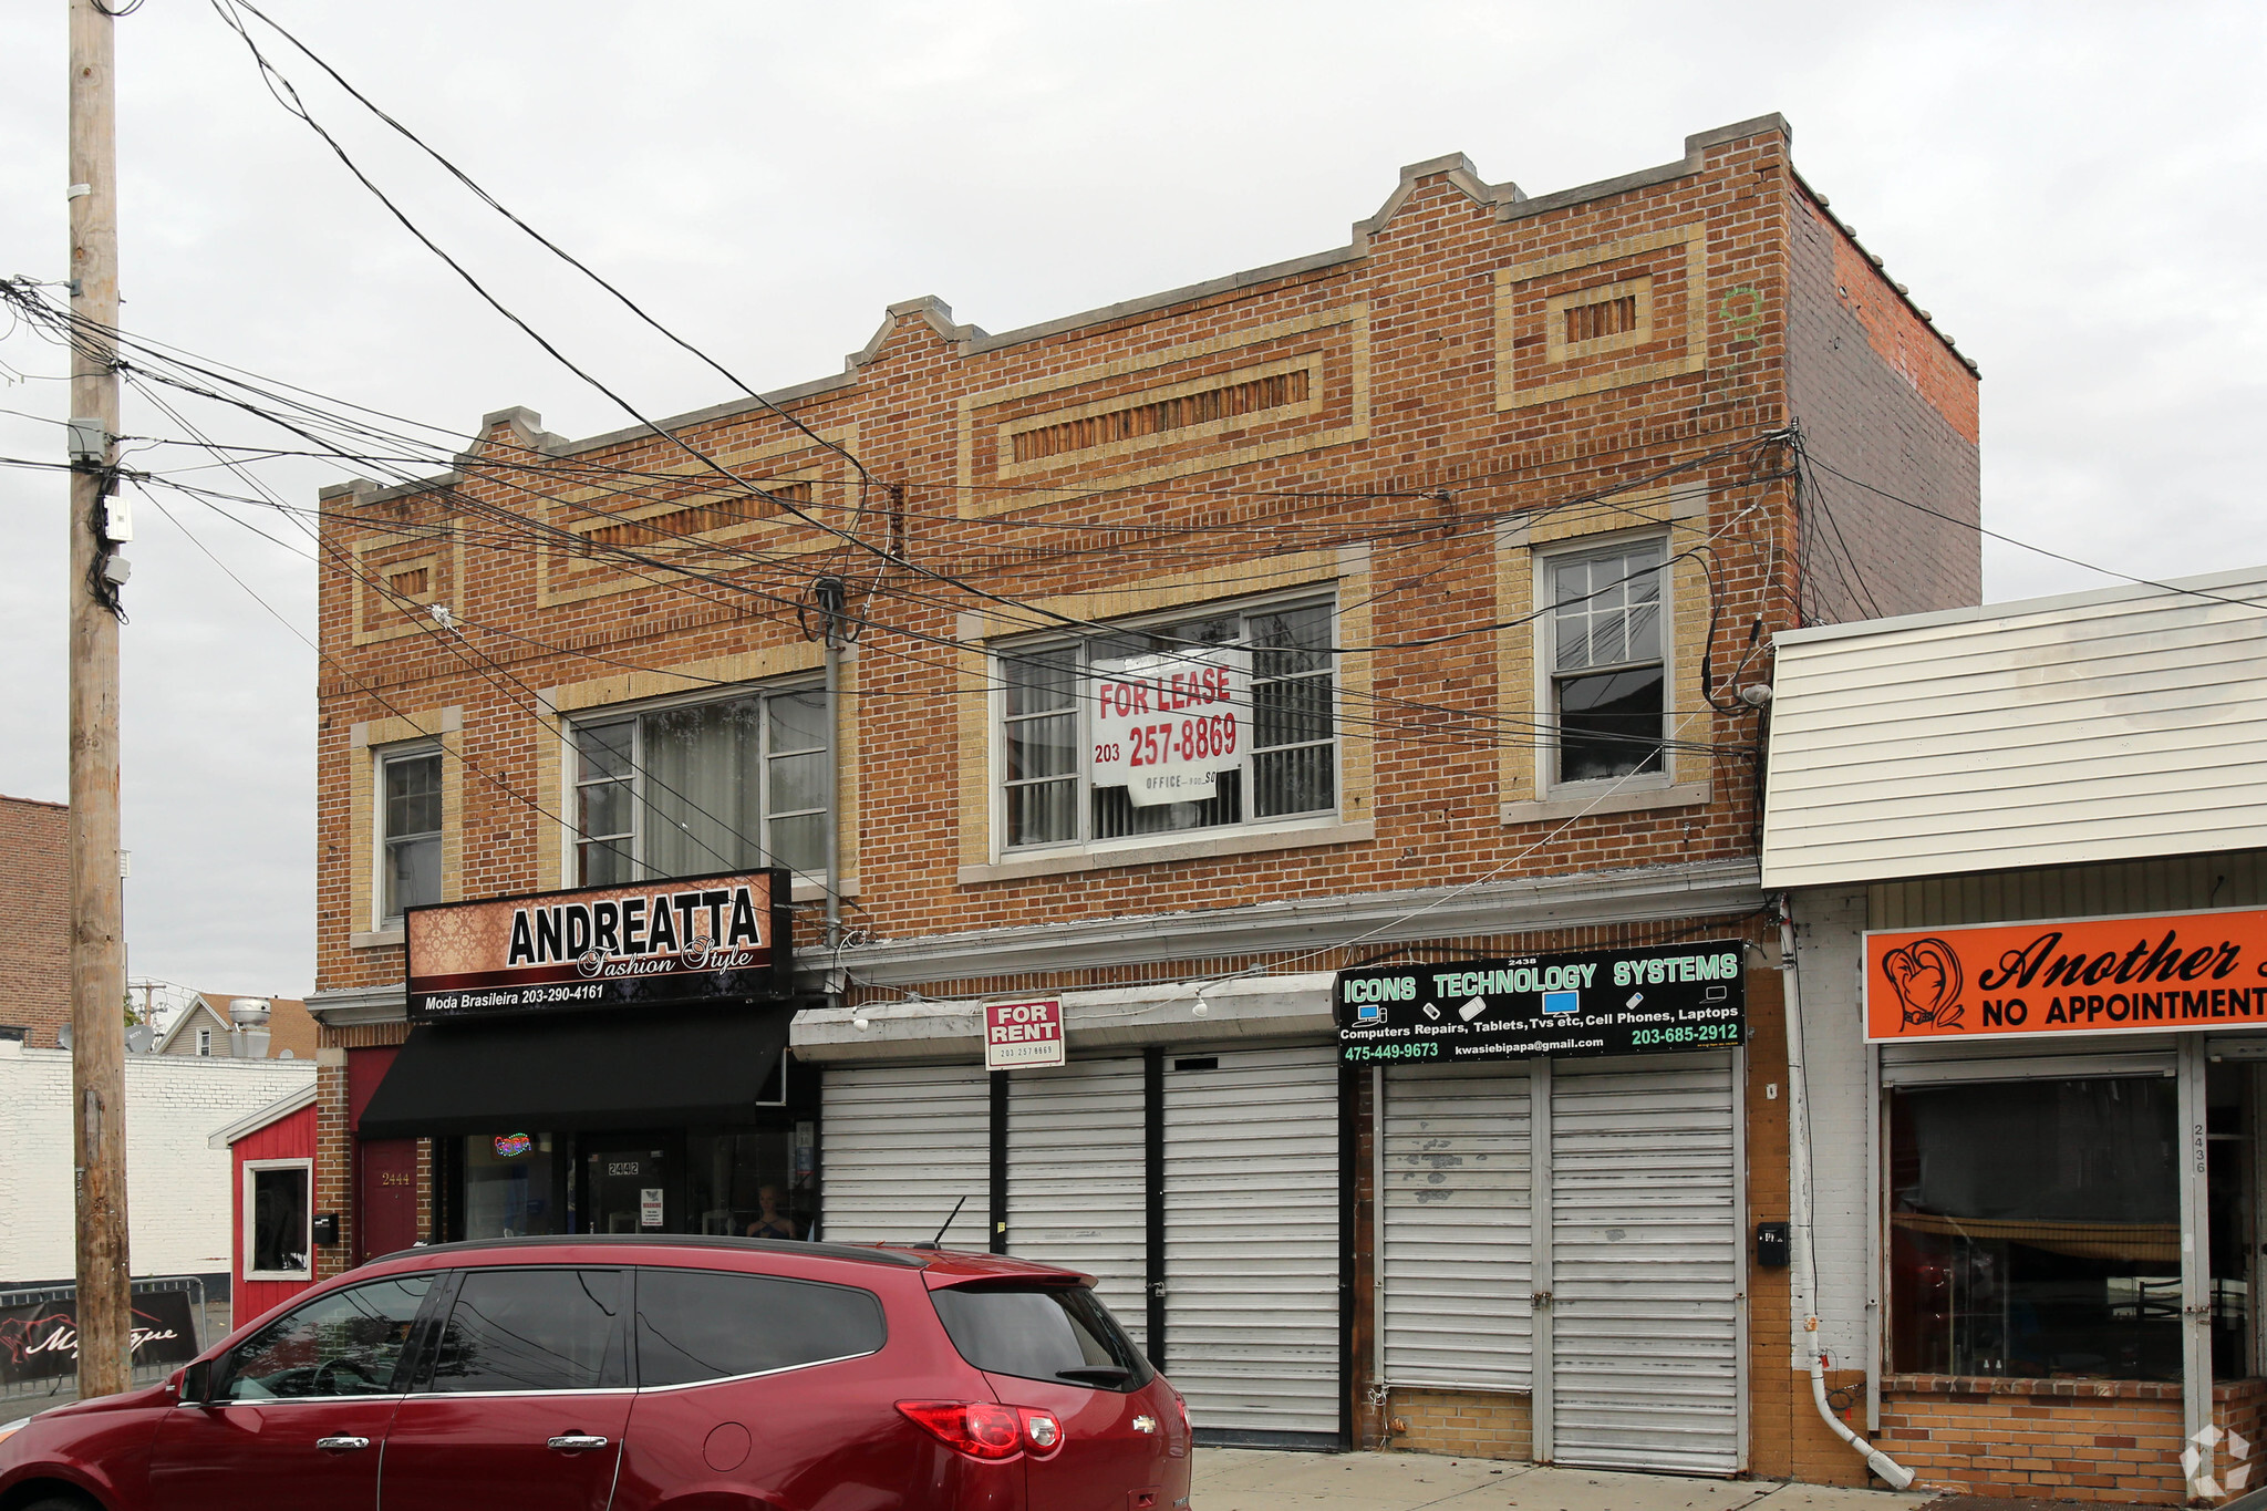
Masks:
[[[1891,1092],[1891,1368],[2179,1380],[2176,1149],[2167,1076]]]

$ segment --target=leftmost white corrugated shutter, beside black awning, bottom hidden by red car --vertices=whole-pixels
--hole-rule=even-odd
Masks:
[[[821,1117],[821,1237],[925,1244],[966,1196],[943,1241],[986,1246],[991,1081],[982,1065],[830,1067]]]

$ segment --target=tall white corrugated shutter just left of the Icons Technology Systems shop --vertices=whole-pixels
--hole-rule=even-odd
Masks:
[[[1165,1056],[1165,1373],[1199,1432],[1338,1443],[1338,1223],[1335,1047]]]

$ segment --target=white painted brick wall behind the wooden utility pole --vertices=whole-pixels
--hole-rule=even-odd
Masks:
[[[313,1060],[127,1056],[127,1244],[136,1275],[229,1269],[227,1149],[206,1139],[315,1081]],[[0,1040],[0,1282],[75,1266],[70,1051]]]

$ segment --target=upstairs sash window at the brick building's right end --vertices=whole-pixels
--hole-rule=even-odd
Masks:
[[[1662,770],[1666,546],[1625,541],[1542,560],[1555,779]]]

